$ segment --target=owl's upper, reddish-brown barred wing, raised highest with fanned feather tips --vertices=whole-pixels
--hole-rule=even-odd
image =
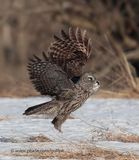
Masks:
[[[54,36],[48,51],[48,57],[68,74],[70,78],[80,76],[82,67],[90,57],[91,39],[87,38],[86,31],[79,28],[75,31],[70,28],[66,34],[61,31],[61,38]]]

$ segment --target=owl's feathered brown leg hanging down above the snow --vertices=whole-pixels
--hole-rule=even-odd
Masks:
[[[65,122],[65,120],[68,118],[69,115],[57,115],[53,121],[52,124],[54,125],[55,129],[57,129],[59,132],[62,132],[61,126]]]

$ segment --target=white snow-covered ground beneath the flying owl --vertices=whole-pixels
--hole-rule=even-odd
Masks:
[[[22,115],[29,106],[48,100],[50,98],[46,97],[0,98],[0,119],[4,118],[0,120],[0,159],[8,159],[7,154],[18,149],[75,150],[71,144],[80,143],[139,155],[139,143],[107,139],[108,134],[139,136],[139,100],[89,99],[72,114],[74,119],[63,124],[63,133],[55,130],[51,119],[45,116]],[[30,137],[38,135],[46,136],[52,142],[27,142]]]

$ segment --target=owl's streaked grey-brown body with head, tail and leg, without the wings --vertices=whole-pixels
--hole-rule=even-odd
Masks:
[[[54,114],[55,118],[52,123],[57,130],[61,131],[61,126],[70,113],[81,107],[87,98],[98,90],[99,86],[99,82],[93,76],[93,73],[84,73],[73,88],[63,89],[58,98],[30,107],[24,114]]]

